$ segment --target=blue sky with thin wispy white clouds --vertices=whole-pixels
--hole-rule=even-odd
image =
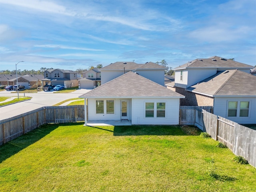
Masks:
[[[256,65],[255,0],[0,0],[0,70],[211,56]]]

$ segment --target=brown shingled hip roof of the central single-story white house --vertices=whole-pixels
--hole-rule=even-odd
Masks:
[[[81,96],[80,98],[185,98],[134,72],[128,72]]]

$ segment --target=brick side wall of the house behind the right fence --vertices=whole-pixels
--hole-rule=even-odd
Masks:
[[[184,88],[176,87],[176,92],[185,96],[180,99],[181,106],[213,106],[214,98],[186,91]]]

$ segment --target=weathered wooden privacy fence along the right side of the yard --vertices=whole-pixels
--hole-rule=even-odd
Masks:
[[[180,107],[180,124],[197,126],[256,167],[256,130],[195,106]]]

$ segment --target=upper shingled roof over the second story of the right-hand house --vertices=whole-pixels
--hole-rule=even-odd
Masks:
[[[207,59],[195,59],[191,62],[188,62],[186,64],[180,65],[174,70],[179,70],[179,69],[186,69],[186,68],[229,68],[229,69],[251,69],[253,66],[247,65],[244,63],[240,63],[237,61],[233,61],[230,59],[225,59],[222,57],[218,56],[213,56]]]

